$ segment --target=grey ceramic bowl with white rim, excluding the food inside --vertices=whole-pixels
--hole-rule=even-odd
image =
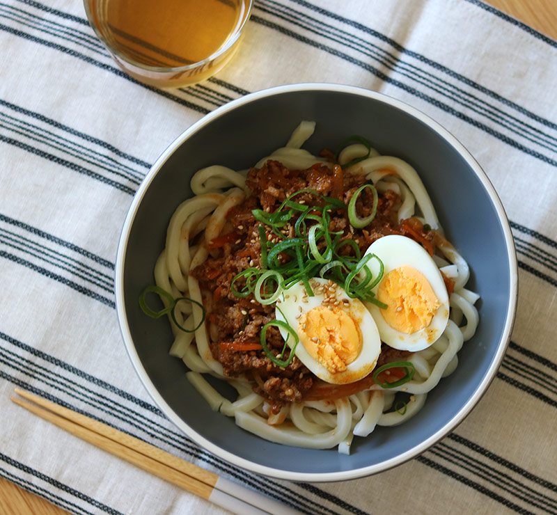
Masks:
[[[300,120],[317,129],[304,148],[336,148],[352,134],[382,154],[418,170],[448,239],[471,267],[481,295],[480,325],[459,353],[459,365],[428,395],[424,408],[398,427],[356,438],[352,454],[304,450],[262,440],[233,418],[211,411],[168,356],[166,319],[143,315],[138,297],[153,283],[166,225],[203,166],[247,168],[282,146]],[[445,129],[423,113],[379,93],[331,84],[280,86],[246,95],[208,114],[165,150],[143,180],[123,227],[116,261],[116,306],[127,351],[157,405],[190,438],[213,454],[257,473],[297,481],[347,480],[415,457],[471,411],[492,381],[510,338],[517,298],[517,264],[501,202],[480,166]]]

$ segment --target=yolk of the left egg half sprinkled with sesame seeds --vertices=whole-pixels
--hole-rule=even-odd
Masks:
[[[317,306],[302,315],[298,335],[308,354],[331,374],[344,372],[362,347],[356,322],[336,306]]]

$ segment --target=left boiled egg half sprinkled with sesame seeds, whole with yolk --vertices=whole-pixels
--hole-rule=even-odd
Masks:
[[[381,351],[369,310],[330,280],[312,278],[309,284],[313,296],[298,283],[276,302],[276,319],[287,322],[299,337],[297,358],[327,383],[353,383],[366,377]],[[286,340],[287,331],[280,330]],[[287,341],[292,347],[292,338]]]

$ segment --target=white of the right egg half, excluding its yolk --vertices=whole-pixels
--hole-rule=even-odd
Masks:
[[[366,303],[375,319],[381,340],[387,345],[404,351],[421,351],[429,347],[445,331],[449,315],[447,288],[434,260],[420,244],[402,235],[389,235],[377,239],[369,246],[367,254],[375,254],[383,262],[384,276],[393,269],[407,266],[420,271],[430,283],[440,306],[430,324],[415,333],[407,334],[391,327],[384,319],[381,308],[373,303]],[[368,268],[374,276],[379,273],[379,263],[375,259],[368,262]],[[374,288],[375,294],[380,284],[381,282]]]

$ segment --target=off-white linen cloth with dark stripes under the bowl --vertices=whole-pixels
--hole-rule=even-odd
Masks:
[[[256,0],[235,61],[168,92],[120,72],[80,1],[4,0],[0,48],[1,477],[74,514],[225,513],[17,408],[21,386],[302,514],[557,514],[554,40],[478,0]],[[510,347],[462,425],[329,484],[248,473],[181,434],[132,369],[113,294],[127,208],[166,145],[230,100],[311,81],[386,93],[455,134],[503,200],[520,280]]]

